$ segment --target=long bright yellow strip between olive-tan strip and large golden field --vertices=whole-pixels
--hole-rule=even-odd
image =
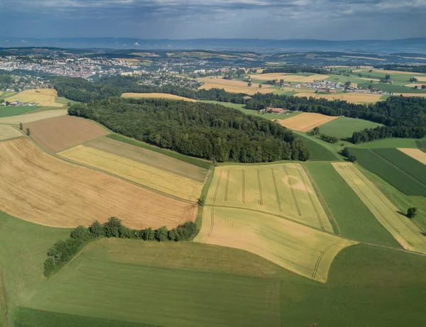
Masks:
[[[190,201],[198,200],[203,187],[202,183],[192,179],[84,145],[62,151],[58,155]]]

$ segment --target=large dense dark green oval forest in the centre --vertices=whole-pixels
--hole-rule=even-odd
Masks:
[[[214,104],[110,98],[75,104],[68,113],[160,148],[218,162],[305,161],[310,157],[302,140],[287,128]]]

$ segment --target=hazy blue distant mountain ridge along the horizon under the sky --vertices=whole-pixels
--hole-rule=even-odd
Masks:
[[[253,50],[258,52],[341,51],[426,54],[426,38],[399,40],[310,40],[198,38],[189,40],[139,38],[0,38],[0,47],[110,48],[141,50]]]

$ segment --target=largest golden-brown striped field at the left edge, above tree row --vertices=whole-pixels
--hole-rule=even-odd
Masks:
[[[73,228],[121,218],[129,228],[173,228],[197,206],[48,155],[28,138],[0,142],[0,210],[45,226]]]

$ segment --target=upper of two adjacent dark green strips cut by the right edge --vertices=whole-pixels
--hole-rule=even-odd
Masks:
[[[395,148],[375,149],[375,153],[426,186],[426,165]]]

